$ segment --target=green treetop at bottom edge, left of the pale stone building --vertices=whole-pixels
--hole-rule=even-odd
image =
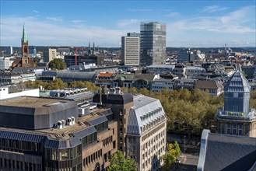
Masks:
[[[110,155],[109,171],[135,171],[137,166],[134,159],[125,159],[121,151]]]

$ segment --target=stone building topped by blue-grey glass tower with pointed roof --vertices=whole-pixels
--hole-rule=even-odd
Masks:
[[[217,132],[256,137],[256,110],[250,109],[250,89],[241,72],[235,72],[224,87],[224,106],[216,113]]]

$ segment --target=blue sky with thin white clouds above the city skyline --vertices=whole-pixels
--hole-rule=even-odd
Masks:
[[[167,47],[256,47],[256,0],[0,0],[0,45],[121,47],[140,23],[167,25]]]

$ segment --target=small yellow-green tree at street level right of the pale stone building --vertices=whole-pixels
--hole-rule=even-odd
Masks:
[[[170,166],[172,166],[177,158],[181,156],[181,149],[175,141],[174,145],[167,145],[167,152],[162,156],[163,159],[163,168],[170,170]]]

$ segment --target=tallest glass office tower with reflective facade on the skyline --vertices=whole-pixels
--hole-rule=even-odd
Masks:
[[[141,23],[140,65],[163,65],[166,57],[166,25]]]

